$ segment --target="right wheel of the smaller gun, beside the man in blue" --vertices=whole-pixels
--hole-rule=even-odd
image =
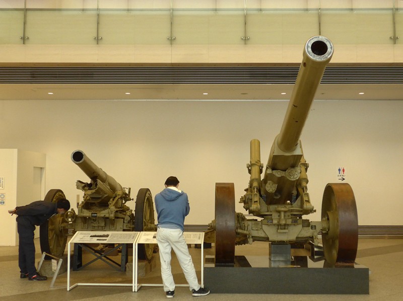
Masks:
[[[155,231],[154,204],[150,189],[141,188],[137,193],[135,231]],[[139,259],[150,261],[155,244],[139,244]]]

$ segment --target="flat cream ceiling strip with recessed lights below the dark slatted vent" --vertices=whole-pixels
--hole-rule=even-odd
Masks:
[[[288,100],[293,85],[0,84],[1,100]],[[359,93],[365,94],[360,95]],[[53,94],[48,94],[53,93]],[[126,94],[130,93],[130,94]],[[204,95],[208,93],[208,95]],[[281,93],[286,93],[281,94]],[[403,85],[319,86],[317,100],[403,100]]]

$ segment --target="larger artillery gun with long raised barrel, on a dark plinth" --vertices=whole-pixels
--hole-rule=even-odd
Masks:
[[[250,141],[247,164],[250,180],[239,202],[258,218],[248,219],[235,212],[233,183],[216,183],[216,213],[210,225],[210,233],[215,234],[216,266],[233,266],[235,245],[253,241],[270,242],[272,254],[276,247],[279,247],[276,254],[289,252],[289,258],[293,258],[296,265],[306,266],[308,257],[315,260],[315,250],[321,247],[326,267],[354,265],[358,217],[349,184],[327,184],[321,220],[303,218],[316,210],[308,194],[309,165],[304,159],[300,136],[332,54],[333,45],[327,38],[315,36],[307,41],[284,122],[274,140],[262,179],[260,141]],[[318,237],[320,232],[322,242]]]

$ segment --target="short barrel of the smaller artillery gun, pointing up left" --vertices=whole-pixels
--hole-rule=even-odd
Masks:
[[[93,181],[99,180],[109,186],[113,191],[122,191],[123,187],[106,172],[100,169],[88,158],[82,150],[75,150],[72,153],[72,161]]]

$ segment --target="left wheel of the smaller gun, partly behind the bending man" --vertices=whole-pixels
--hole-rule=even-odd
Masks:
[[[51,189],[46,193],[44,202],[56,203],[59,199],[65,198],[63,191],[60,189]],[[39,227],[39,242],[41,252],[62,257],[66,247],[68,232],[61,227],[65,222],[63,215],[54,214],[48,221]],[[46,259],[50,259],[48,256]]]

